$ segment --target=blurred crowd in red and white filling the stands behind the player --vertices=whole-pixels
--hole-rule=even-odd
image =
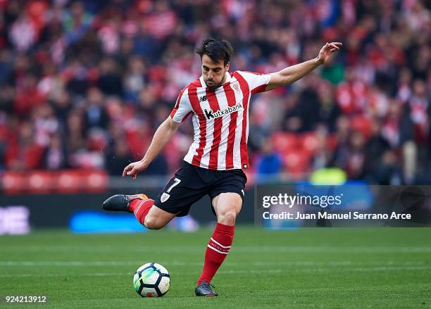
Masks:
[[[256,72],[344,44],[303,80],[252,98],[258,175],[431,181],[425,0],[0,0],[0,171],[120,175],[199,77],[206,37],[232,43],[232,70]],[[187,120],[146,174],[175,171],[191,141]]]

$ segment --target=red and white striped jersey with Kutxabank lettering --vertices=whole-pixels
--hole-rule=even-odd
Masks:
[[[235,71],[217,89],[208,89],[202,76],[182,89],[170,117],[183,122],[192,115],[194,138],[184,160],[211,170],[249,168],[250,97],[268,82],[270,75]]]

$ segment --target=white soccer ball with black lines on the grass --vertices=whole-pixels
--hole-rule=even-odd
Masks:
[[[169,272],[158,263],[146,263],[136,270],[133,286],[142,297],[163,296],[169,291]]]

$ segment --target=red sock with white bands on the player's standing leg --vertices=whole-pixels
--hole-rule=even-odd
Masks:
[[[232,245],[234,225],[223,225],[217,223],[213,236],[211,237],[205,252],[204,270],[199,277],[197,284],[202,281],[211,282],[218,267],[225,260],[227,253]]]

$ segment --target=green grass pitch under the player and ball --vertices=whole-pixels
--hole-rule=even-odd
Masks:
[[[190,234],[0,237],[0,295],[47,295],[1,308],[430,308],[431,229],[238,226],[213,279],[218,298],[196,298],[212,229]],[[141,298],[132,275],[156,261],[171,275],[162,298]]]

